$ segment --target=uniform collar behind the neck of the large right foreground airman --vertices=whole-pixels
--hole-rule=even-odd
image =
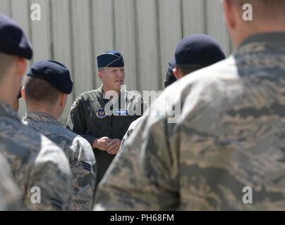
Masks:
[[[246,38],[239,47],[256,42],[280,42],[285,44],[285,32],[269,32],[253,34]]]

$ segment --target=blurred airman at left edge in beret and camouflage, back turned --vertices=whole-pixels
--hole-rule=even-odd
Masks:
[[[23,30],[0,13],[0,153],[10,165],[25,209],[68,210],[72,190],[66,155],[24,126],[11,107],[31,58],[32,48]]]

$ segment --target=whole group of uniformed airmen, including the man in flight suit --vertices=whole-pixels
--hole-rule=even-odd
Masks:
[[[234,53],[181,40],[149,108],[122,88],[123,55],[97,56],[102,86],[76,98],[66,127],[68,68],[28,69],[30,41],[0,13],[0,210],[285,210],[285,1],[247,2],[253,21],[243,0],[222,1]]]

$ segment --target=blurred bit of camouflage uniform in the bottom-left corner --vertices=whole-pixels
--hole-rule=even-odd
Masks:
[[[0,154],[0,211],[20,210],[20,190],[14,183],[10,168]]]

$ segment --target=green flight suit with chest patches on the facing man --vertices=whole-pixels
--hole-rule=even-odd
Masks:
[[[111,115],[107,115],[107,110],[104,110],[107,104],[111,104],[110,110],[114,112]],[[140,95],[124,89],[110,103],[104,97],[102,85],[99,89],[78,96],[71,107],[66,127],[83,136],[91,146],[95,139],[104,136],[109,139],[123,139],[130,124],[142,115],[143,107]],[[97,148],[93,150],[97,161],[98,184],[115,155],[109,155],[107,151]]]

